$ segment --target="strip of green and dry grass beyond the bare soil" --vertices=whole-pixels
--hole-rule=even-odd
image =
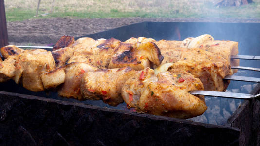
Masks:
[[[216,0],[5,0],[7,21],[73,18],[260,18],[260,0],[240,7],[214,7]],[[52,6],[53,12],[50,14]],[[46,14],[42,16],[42,14]]]

